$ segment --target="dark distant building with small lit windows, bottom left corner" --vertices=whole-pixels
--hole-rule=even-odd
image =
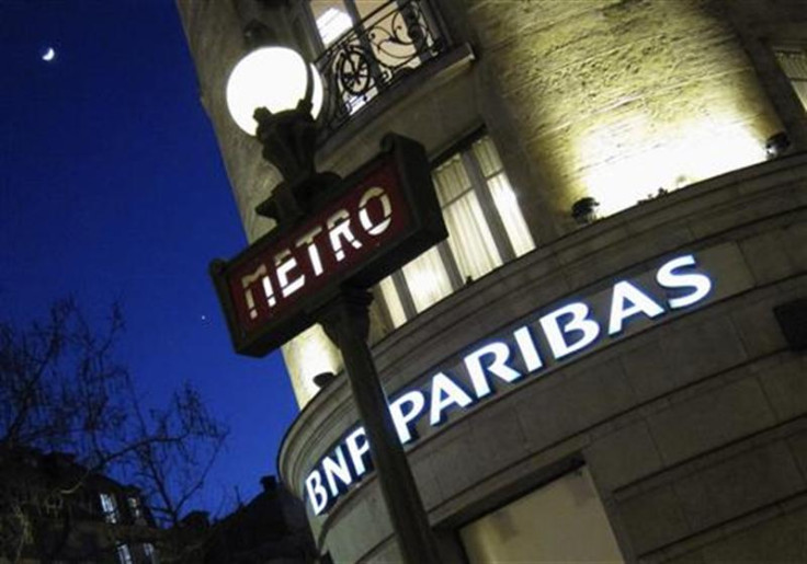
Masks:
[[[0,452],[0,562],[157,564],[140,492],[62,452]]]

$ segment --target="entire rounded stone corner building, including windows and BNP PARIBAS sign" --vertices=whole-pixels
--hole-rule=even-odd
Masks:
[[[323,74],[320,170],[387,131],[433,160],[450,239],[371,339],[446,562],[807,559],[807,2],[178,7],[250,240],[281,179],[224,93],[257,35]],[[338,353],[284,357],[320,554],[396,560],[348,382],[314,383]]]

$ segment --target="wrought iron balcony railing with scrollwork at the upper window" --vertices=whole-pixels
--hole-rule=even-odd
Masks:
[[[326,83],[325,140],[371,101],[446,51],[427,0],[393,0],[328,47],[316,65]]]

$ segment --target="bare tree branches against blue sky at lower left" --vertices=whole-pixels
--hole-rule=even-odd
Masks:
[[[158,523],[178,529],[227,429],[189,383],[166,406],[146,408],[115,360],[123,330],[116,304],[99,329],[71,299],[54,303],[45,321],[29,326],[0,322],[0,471],[5,453],[19,449],[69,452],[81,471],[44,484],[42,499],[69,499],[92,476],[105,474],[136,486]],[[0,484],[0,560],[15,562],[36,543],[44,511],[42,499],[21,503],[7,495],[8,487]],[[73,521],[69,511],[62,514],[61,529],[50,534],[56,540],[42,548],[46,560],[57,559],[68,544]],[[110,527],[109,534],[122,530]],[[168,537],[162,531],[154,540],[164,544]],[[164,560],[182,561],[182,543],[168,545],[177,554]]]

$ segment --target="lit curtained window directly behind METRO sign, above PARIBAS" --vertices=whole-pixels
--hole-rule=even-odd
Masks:
[[[396,327],[535,248],[490,138],[450,156],[432,177],[448,239],[379,284]]]

